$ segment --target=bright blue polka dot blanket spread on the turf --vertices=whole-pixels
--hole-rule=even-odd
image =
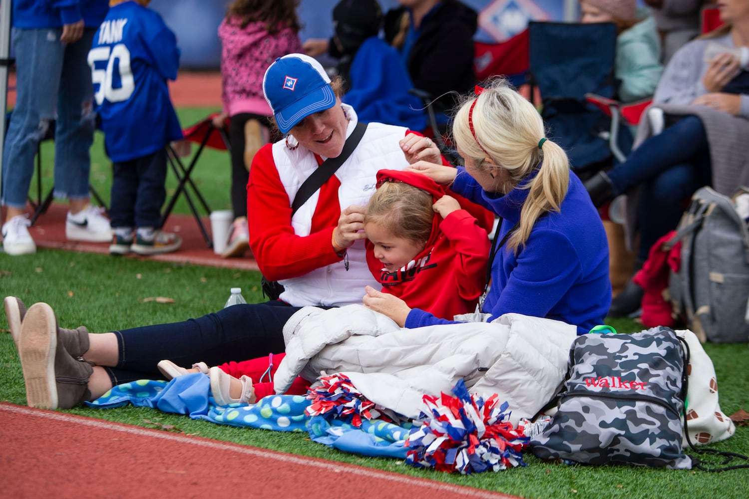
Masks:
[[[305,410],[311,402],[303,395],[272,395],[258,400],[255,405],[216,405],[208,376],[191,373],[170,382],[142,379],[117,385],[86,404],[92,408],[131,404],[229,426],[309,432],[312,441],[344,452],[406,458],[404,439],[410,429],[409,423],[398,426],[385,420],[364,419],[357,427],[351,415],[331,417],[333,414],[327,413],[309,416]]]

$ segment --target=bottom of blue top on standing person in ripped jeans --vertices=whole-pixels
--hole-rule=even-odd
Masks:
[[[109,0],[13,0],[13,28],[61,28],[83,19],[98,28],[109,10]]]

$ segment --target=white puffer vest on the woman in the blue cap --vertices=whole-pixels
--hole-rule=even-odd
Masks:
[[[357,125],[357,115],[351,106],[344,104],[343,107],[351,118],[346,131],[348,137]],[[369,123],[357,148],[336,171],[341,182],[338,199],[320,199],[320,191],[315,192],[291,218],[294,233],[309,236],[312,215],[318,203],[337,203],[340,209],[352,204],[365,206],[375,192],[377,171],[407,167],[408,162],[398,145],[406,131],[402,126]],[[289,150],[284,141],[279,141],[273,144],[273,161],[288,198],[293,202],[302,183],[318,168],[315,155],[303,146]],[[365,286],[380,289],[367,267],[363,241],[348,248],[348,261],[348,271],[343,262],[336,262],[299,278],[279,281],[285,288],[281,299],[299,307],[311,303],[327,306],[361,303]]]

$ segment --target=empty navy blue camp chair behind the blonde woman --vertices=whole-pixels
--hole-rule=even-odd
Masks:
[[[530,22],[528,29],[530,84],[540,91],[548,137],[567,152],[584,180],[617,161],[612,133],[619,150],[631,150],[631,132],[612,129],[610,114],[586,100],[586,94],[615,98],[616,25]]]

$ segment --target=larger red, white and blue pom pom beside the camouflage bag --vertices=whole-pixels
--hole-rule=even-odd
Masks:
[[[422,412],[422,425],[410,430],[406,462],[461,474],[526,466],[521,450],[529,438],[507,421],[507,402],[497,405],[497,394],[474,397],[462,379],[452,394],[424,396],[430,414]]]

